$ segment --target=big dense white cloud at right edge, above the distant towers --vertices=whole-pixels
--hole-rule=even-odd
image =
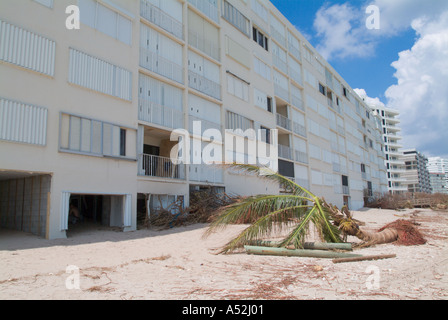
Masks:
[[[412,28],[419,38],[392,63],[397,84],[386,91],[388,106],[400,111],[406,147],[448,155],[448,11]]]

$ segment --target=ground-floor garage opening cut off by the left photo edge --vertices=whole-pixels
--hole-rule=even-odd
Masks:
[[[48,237],[51,175],[0,171],[0,228]]]

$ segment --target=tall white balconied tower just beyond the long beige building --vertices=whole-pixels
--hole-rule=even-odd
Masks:
[[[401,128],[399,126],[399,111],[386,107],[378,99],[367,97],[365,92],[359,92],[363,101],[372,109],[375,115],[381,118],[382,139],[384,140],[384,152],[386,154],[385,165],[387,169],[388,190],[391,194],[400,194],[408,191],[406,179],[402,176],[405,172],[405,163],[400,159]]]

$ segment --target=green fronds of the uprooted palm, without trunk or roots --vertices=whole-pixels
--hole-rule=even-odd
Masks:
[[[221,253],[234,251],[253,240],[262,240],[274,231],[281,231],[286,227],[292,228],[292,231],[280,242],[279,246],[293,245],[295,248],[303,248],[311,224],[316,227],[322,241],[342,242],[340,230],[332,223],[333,216],[323,199],[269,168],[245,164],[233,164],[227,167],[280,183],[290,193],[252,196],[225,207],[204,236],[229,224],[241,221],[252,223],[228,242]]]

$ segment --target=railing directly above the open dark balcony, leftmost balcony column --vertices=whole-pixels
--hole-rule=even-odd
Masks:
[[[184,115],[181,111],[142,98],[139,99],[138,119],[171,129],[184,127]]]

